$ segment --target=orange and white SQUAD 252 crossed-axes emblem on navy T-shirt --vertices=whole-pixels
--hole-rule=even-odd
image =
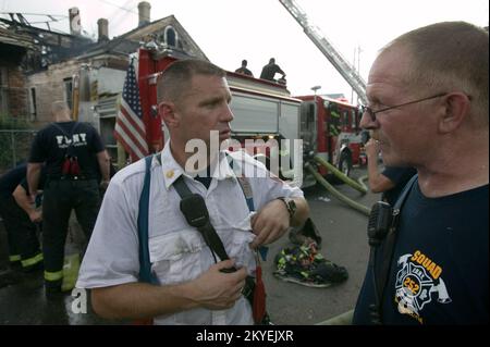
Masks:
[[[396,297],[399,312],[409,314],[424,323],[420,315],[424,307],[436,299],[440,303],[451,302],[451,298],[442,281],[442,268],[429,257],[416,250],[399,258],[396,273]]]

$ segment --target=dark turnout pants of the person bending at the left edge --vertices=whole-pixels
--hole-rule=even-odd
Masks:
[[[42,253],[36,224],[12,196],[0,198],[0,215],[7,231],[11,265],[21,264],[26,271],[39,267],[42,263]]]

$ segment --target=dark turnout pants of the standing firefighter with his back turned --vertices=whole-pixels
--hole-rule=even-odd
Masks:
[[[42,200],[42,251],[47,292],[60,292],[63,281],[64,244],[72,210],[87,241],[100,208],[96,179],[49,181]]]

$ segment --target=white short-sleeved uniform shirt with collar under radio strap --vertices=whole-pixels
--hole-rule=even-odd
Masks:
[[[206,189],[200,182],[183,172],[169,145],[162,151],[162,164],[157,158],[151,163],[148,223],[151,271],[161,285],[177,284],[198,277],[215,263],[203,236],[187,224],[180,210],[181,198],[172,184],[184,175],[191,191],[204,197],[211,224],[229,257],[235,260],[237,268],[244,265],[249,274],[254,274],[255,258],[248,247],[255,238],[250,232],[250,213],[225,153],[220,153],[213,178]],[[252,157],[243,152],[229,154],[234,158],[234,164],[240,164],[233,165],[236,172],[240,172],[237,168],[244,168],[257,211],[278,197],[303,197],[299,188],[266,177],[266,168]],[[77,287],[97,288],[138,282],[137,216],[144,176],[145,160],[139,160],[119,171],[111,179],[82,263]],[[250,305],[242,297],[228,310],[196,308],[157,317],[155,323],[253,324],[253,318]]]

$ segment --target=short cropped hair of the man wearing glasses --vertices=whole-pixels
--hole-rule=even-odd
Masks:
[[[488,125],[489,34],[465,22],[442,22],[408,32],[381,53],[406,47],[411,90],[463,91],[471,97],[471,114]]]

